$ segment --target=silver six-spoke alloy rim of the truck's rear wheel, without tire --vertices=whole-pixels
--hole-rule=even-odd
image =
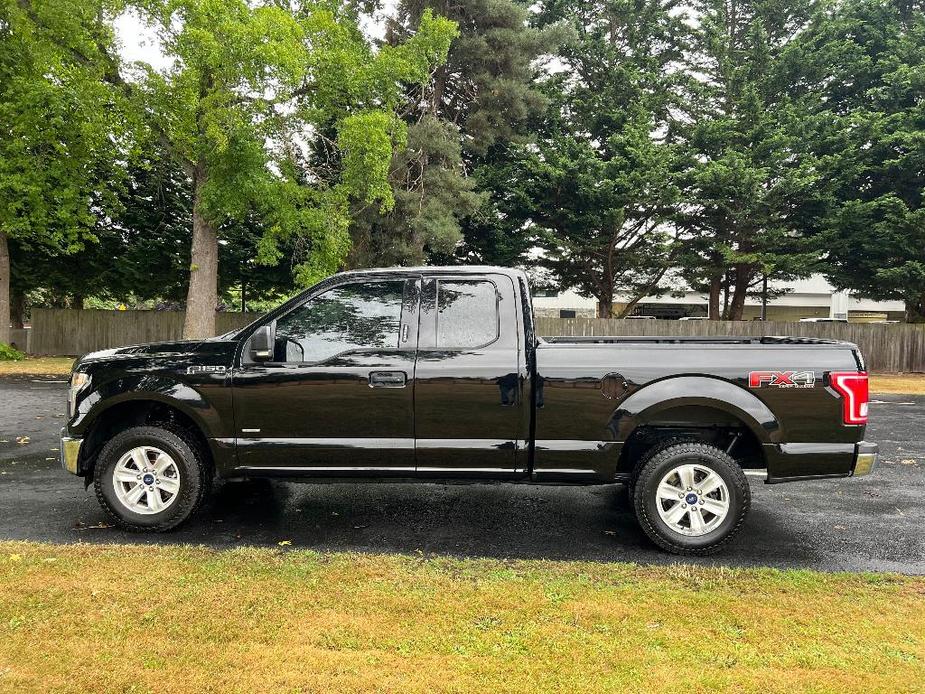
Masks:
[[[676,533],[700,537],[715,530],[729,513],[729,488],[705,465],[673,468],[658,483],[659,517]]]

